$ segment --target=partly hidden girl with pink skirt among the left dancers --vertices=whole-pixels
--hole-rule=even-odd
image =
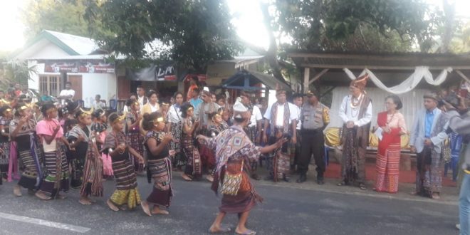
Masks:
[[[93,118],[95,122],[91,125],[91,131],[94,132],[97,137],[96,147],[98,147],[98,150],[101,150],[105,143],[108,130],[108,116],[104,110],[95,110],[95,112],[93,112]],[[113,161],[111,161],[111,157],[104,153],[100,155],[101,160],[103,160],[103,177],[113,177]]]

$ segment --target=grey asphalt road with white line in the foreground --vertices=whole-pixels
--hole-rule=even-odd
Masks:
[[[146,198],[152,189],[138,177]],[[78,189],[68,199],[43,202],[13,183],[0,186],[0,234],[207,234],[220,199],[208,182],[184,182],[174,176],[174,197],[167,216],[110,211],[105,204],[114,182],[105,182],[105,197],[91,206],[78,204]],[[295,184],[295,183],[291,183]],[[457,234],[456,204],[387,199],[315,189],[255,183],[265,199],[251,212],[248,227],[258,234]],[[236,226],[236,215],[224,224]]]

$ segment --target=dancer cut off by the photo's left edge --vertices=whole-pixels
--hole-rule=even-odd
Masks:
[[[9,171],[10,160],[10,140],[9,128],[13,110],[10,106],[4,105],[0,108],[0,184],[2,179],[6,179],[6,173]]]

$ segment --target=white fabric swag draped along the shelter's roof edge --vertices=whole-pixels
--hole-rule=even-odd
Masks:
[[[348,75],[348,77],[351,80],[355,80],[356,76],[348,69],[344,68],[343,69],[345,73]],[[409,75],[409,77],[403,81],[403,83],[400,83],[399,85],[395,85],[391,88],[387,88],[387,86],[382,83],[379,78],[377,78],[374,73],[372,73],[369,69],[365,68],[362,73],[360,73],[359,76],[364,75],[367,73],[369,75],[370,80],[372,80],[372,83],[377,85],[378,88],[387,91],[387,93],[392,93],[392,94],[403,94],[407,93],[410,90],[413,90],[418,83],[424,78],[427,83],[431,85],[441,85],[444,83],[444,80],[447,78],[447,74],[452,72],[452,68],[446,68],[442,70],[442,72],[437,76],[437,78],[434,80],[432,78],[432,73],[429,71],[429,67],[426,66],[418,66],[414,69],[414,73],[412,75]]]

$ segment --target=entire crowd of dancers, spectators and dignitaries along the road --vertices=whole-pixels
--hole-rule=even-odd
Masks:
[[[457,135],[464,145],[468,143],[468,137],[462,137],[469,134],[469,125],[462,124],[469,121],[465,99],[424,95],[424,109],[416,113],[412,129],[408,129],[399,113],[401,100],[390,95],[385,99],[385,112],[377,114],[377,125],[372,127],[367,78],[352,80],[350,95],[338,110],[344,123],[338,186],[366,189],[365,156],[372,131],[380,139],[373,189],[396,193],[400,137],[409,133],[409,145],[417,153],[414,194],[439,199],[445,140]],[[246,228],[246,220],[262,201],[251,183],[251,179],[261,179],[260,160],[266,162],[266,180],[291,182],[291,175],[298,174],[296,182],[303,183],[308,180],[313,155],[316,182],[325,183],[324,131],[330,110],[314,90],[293,94],[288,102],[286,90],[277,88],[272,105],[266,98],[241,91],[231,105],[226,93],[204,90],[194,79],[186,95],[177,92],[169,100],[159,100],[156,90],[139,86],[123,110],[114,112],[105,110],[98,96],[93,107],[84,108],[71,92],[63,93],[63,103],[31,103],[16,91],[0,95],[1,178],[18,181],[14,186],[18,197],[24,188],[43,200],[65,199],[63,192],[72,187],[80,189],[78,202],[88,205],[95,202],[93,197],[103,197],[103,180],[114,179],[115,191],[107,200],[113,211],[140,205],[148,216],[169,214],[172,175],[179,172],[188,182],[207,179],[216,194],[223,194],[209,232],[228,231],[221,221],[226,213],[234,213],[239,214],[235,232],[254,234]],[[468,158],[468,150],[465,156]],[[464,192],[470,187],[466,164],[461,164],[461,218],[468,217],[470,205],[469,192]],[[142,199],[137,175],[145,173],[149,183],[153,179],[153,187]]]

